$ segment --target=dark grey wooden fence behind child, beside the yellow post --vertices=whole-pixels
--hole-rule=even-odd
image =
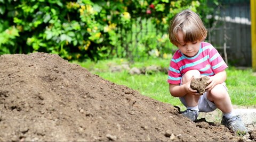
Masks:
[[[252,0],[255,1],[255,0]],[[233,66],[252,66],[250,0],[220,1],[209,15],[208,40],[217,48],[226,63]]]

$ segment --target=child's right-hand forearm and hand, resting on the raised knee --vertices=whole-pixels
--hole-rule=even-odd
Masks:
[[[226,81],[227,78],[227,73],[226,70],[222,70],[221,72],[215,74],[214,76],[209,77],[209,81],[207,81],[207,83],[210,83],[206,88],[205,91],[210,91],[212,90],[212,88],[217,85],[217,84],[221,84],[223,82]]]

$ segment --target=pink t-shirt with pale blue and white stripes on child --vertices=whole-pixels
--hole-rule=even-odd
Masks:
[[[196,69],[201,75],[213,76],[227,67],[217,49],[210,43],[202,42],[194,57],[186,57],[179,49],[175,52],[170,62],[167,82],[180,84],[182,75],[188,70]]]

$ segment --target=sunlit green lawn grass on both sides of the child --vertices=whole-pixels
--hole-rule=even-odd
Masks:
[[[182,106],[177,97],[172,97],[169,93],[169,84],[167,75],[159,72],[146,75],[129,75],[128,70],[123,72],[111,73],[109,66],[122,65],[127,62],[125,59],[101,60],[98,63],[86,61],[85,63],[76,63],[90,70],[92,74],[98,74],[108,81],[116,84],[126,85],[133,90],[138,90],[142,95],[149,96],[155,100],[170,103],[172,105]],[[169,66],[167,59],[149,59],[144,62],[134,63],[132,67],[147,67],[157,65],[162,67]],[[235,67],[229,67],[227,70],[227,87],[234,105],[255,106],[256,104],[256,76],[252,69],[239,70]]]

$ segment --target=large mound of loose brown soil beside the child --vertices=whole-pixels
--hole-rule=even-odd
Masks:
[[[238,141],[58,55],[0,57],[0,141]]]

